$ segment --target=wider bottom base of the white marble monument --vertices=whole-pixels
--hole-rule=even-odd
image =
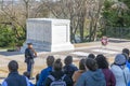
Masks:
[[[41,43],[35,41],[26,41],[21,48],[21,52],[24,53],[27,48],[27,43],[32,43],[34,48],[37,52],[63,52],[63,51],[74,51],[74,45],[72,43],[64,43],[64,44],[50,44],[50,43]]]

